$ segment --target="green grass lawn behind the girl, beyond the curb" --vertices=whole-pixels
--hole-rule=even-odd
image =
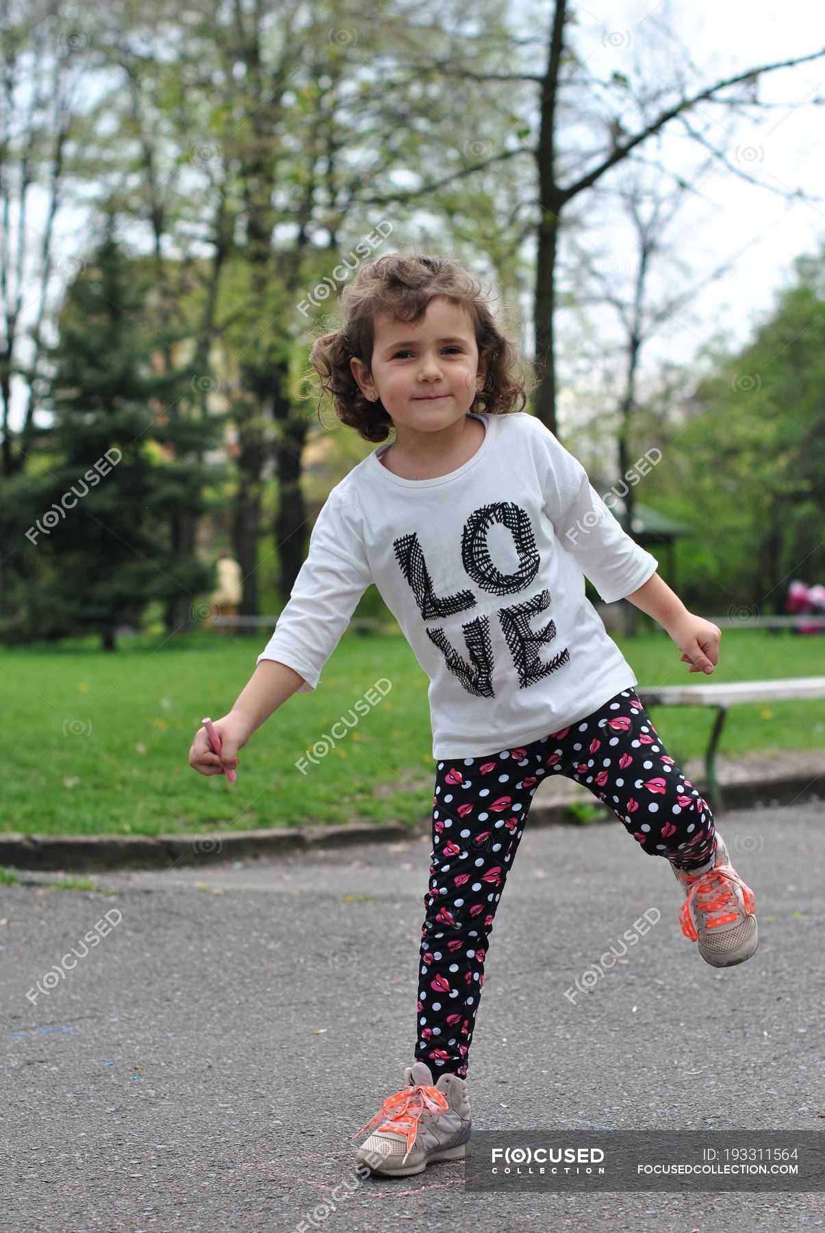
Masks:
[[[199,631],[97,644],[0,650],[6,698],[2,829],[39,834],[143,834],[397,821],[429,814],[434,763],[427,678],[406,641],[348,633],[321,687],[295,694],[240,751],[238,779],[187,763],[203,715],[226,714],[255,668],[266,633]],[[661,631],[615,641],[641,686],[700,684]],[[713,682],[825,674],[825,636],[725,630]],[[392,689],[330,752],[296,768],[375,681]],[[825,743],[821,700],[737,705],[724,756]],[[678,763],[704,752],[715,711],[659,707],[654,723]]]

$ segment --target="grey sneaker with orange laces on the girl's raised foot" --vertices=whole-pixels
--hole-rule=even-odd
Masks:
[[[699,872],[677,869],[675,864],[671,868],[686,891],[679,911],[682,932],[698,942],[705,963],[733,968],[750,959],[758,946],[756,898],[730,863],[719,831],[712,867]],[[696,925],[691,920],[691,907]]]

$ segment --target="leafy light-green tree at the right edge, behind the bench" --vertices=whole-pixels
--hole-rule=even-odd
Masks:
[[[692,592],[745,624],[783,612],[793,578],[825,580],[824,355],[825,245],[797,259],[745,346],[714,338],[703,350],[705,374],[662,439],[667,482],[646,481],[700,529],[682,571]]]

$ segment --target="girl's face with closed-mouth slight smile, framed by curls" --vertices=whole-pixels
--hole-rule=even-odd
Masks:
[[[388,312],[374,324],[371,374],[355,356],[350,369],[396,428],[438,432],[466,416],[486,372],[469,313],[437,296],[416,326]]]

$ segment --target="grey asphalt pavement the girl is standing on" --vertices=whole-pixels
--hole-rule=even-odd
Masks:
[[[618,821],[528,820],[490,937],[474,1132],[825,1136],[824,824],[818,801],[718,815],[760,921],[753,958],[719,970],[682,936],[666,862]],[[413,1060],[429,850],[0,885],[2,1233],[825,1227],[823,1191],[793,1180],[480,1194],[464,1161],[358,1178],[350,1136]]]

